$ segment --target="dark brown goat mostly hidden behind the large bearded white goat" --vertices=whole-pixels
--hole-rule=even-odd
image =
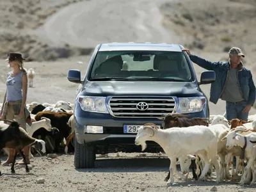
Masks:
[[[164,122],[163,129],[168,129],[172,127],[189,127],[193,125],[205,125],[205,126],[209,125],[205,118],[187,118],[187,117],[188,115],[168,113],[163,118],[163,122]],[[187,156],[187,158],[189,158],[189,156]],[[190,159],[192,164],[193,179],[197,180],[198,177],[200,176],[200,168],[198,168],[198,164],[196,164],[195,158],[190,158]],[[186,159],[186,157],[180,158],[179,164],[181,169],[183,169],[183,166],[185,165],[184,162],[182,161],[187,161],[187,160],[188,159]],[[186,164],[186,166],[187,167],[184,169],[189,170],[190,164]],[[196,167],[197,173],[195,172],[195,167]],[[167,181],[169,178],[170,178],[170,172],[168,173],[168,175],[164,180]]]

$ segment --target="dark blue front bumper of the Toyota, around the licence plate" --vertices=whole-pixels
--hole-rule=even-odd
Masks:
[[[79,144],[97,145],[97,143],[106,144],[113,141],[125,141],[134,145],[136,133],[124,133],[124,125],[143,125],[147,123],[154,123],[161,125],[163,128],[163,120],[157,118],[115,118],[106,113],[90,113],[84,112],[83,116],[76,116],[75,114],[75,132],[76,140]],[[202,117],[206,118],[206,108],[197,113],[190,113],[189,118]],[[98,125],[103,127],[103,133],[92,134],[84,132],[84,126]]]

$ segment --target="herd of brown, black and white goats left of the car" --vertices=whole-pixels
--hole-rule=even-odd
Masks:
[[[3,104],[0,104],[0,109],[1,106]],[[56,104],[31,102],[26,106],[31,112],[32,120],[31,125],[26,124],[27,132],[15,121],[8,121],[10,125],[0,122],[0,152],[4,149],[8,154],[6,148],[13,148],[23,157],[25,164],[26,159],[21,150],[27,145],[33,147],[29,158],[33,158],[34,150],[40,154],[58,153],[61,144],[65,147],[66,153],[74,152],[73,142],[70,142],[74,138],[73,104],[59,100]],[[15,173],[13,168],[15,158],[12,163],[12,173]],[[29,172],[27,165],[26,171]]]

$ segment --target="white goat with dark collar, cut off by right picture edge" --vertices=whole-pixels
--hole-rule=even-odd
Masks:
[[[253,148],[253,143],[256,142],[256,133],[252,132],[246,136],[243,136],[242,134],[238,133],[239,129],[234,131],[229,131],[227,136],[221,139],[221,141],[227,140],[227,149],[231,149],[234,146],[239,146],[241,148],[244,148],[244,156],[246,159],[248,159],[248,163],[246,167],[244,168],[243,175],[241,177],[241,180],[239,184],[243,185],[246,181],[246,176],[248,172],[251,172],[252,170],[252,182],[250,185],[253,185],[256,182],[256,173],[255,173],[255,166],[254,161],[256,159],[256,149]]]

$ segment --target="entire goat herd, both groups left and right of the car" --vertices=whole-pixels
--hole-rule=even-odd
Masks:
[[[31,102],[27,108],[31,111],[32,119],[32,124],[27,124],[27,132],[17,122],[0,124],[0,151],[15,148],[24,158],[21,150],[26,145],[45,153],[60,152],[62,143],[66,153],[74,152],[73,142],[70,142],[74,138],[73,105],[70,102]],[[241,177],[239,184],[255,184],[256,115],[249,116],[248,122],[239,119],[228,121],[223,115],[211,115],[207,120],[181,114],[168,114],[161,120],[164,122],[163,129],[158,129],[152,123],[141,126],[134,143],[141,145],[142,151],[147,148],[146,141],[155,141],[163,148],[171,161],[170,172],[164,179],[168,185],[174,183],[174,173],[187,180],[190,166],[195,180],[206,180],[214,168],[217,183],[231,176]],[[33,158],[33,154],[29,158]],[[12,173],[15,173],[14,163],[15,160]],[[181,172],[177,171],[176,164],[180,164]],[[26,171],[29,172],[27,165]]]

